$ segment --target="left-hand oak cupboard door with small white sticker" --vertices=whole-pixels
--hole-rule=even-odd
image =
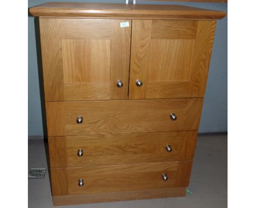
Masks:
[[[40,35],[45,101],[128,98],[131,20],[40,18]]]

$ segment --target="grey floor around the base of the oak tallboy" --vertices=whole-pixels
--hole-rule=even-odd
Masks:
[[[57,206],[65,208],[222,208],[228,207],[228,138],[227,134],[200,134],[197,139],[189,191],[186,197],[118,201],[84,205]],[[43,139],[28,140],[28,169],[47,168]],[[28,179],[28,207],[53,207],[49,175]]]

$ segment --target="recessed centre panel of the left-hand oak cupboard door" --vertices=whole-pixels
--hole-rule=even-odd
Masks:
[[[62,39],[63,83],[109,83],[110,54],[110,39]]]

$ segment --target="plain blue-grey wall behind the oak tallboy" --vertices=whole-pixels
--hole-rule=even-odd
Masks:
[[[28,7],[45,2],[72,2],[72,0],[28,0]],[[114,1],[73,1],[98,3],[124,3]],[[138,1],[141,4],[179,4],[205,9],[228,11],[226,3],[187,3],[187,2],[154,2]],[[43,138],[43,123],[40,104],[39,79],[37,69],[36,37],[34,18],[28,17],[28,138]],[[200,133],[228,131],[228,18],[217,22],[212,51],[210,71],[203,103],[200,122]]]

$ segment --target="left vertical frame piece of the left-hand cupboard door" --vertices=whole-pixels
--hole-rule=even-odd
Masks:
[[[40,18],[45,101],[63,100],[60,19]]]

